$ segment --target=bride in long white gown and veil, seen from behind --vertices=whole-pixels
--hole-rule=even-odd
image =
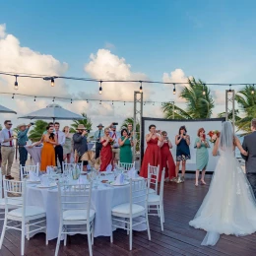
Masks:
[[[202,228],[207,234],[202,245],[215,245],[220,234],[242,236],[256,231],[256,201],[239,162],[235,147],[247,156],[234,136],[230,122],[224,122],[213,155],[221,157],[217,163],[209,191],[189,224]],[[256,167],[256,166],[255,166]]]

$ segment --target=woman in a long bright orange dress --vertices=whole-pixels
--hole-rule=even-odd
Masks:
[[[40,171],[46,171],[47,166],[56,165],[54,146],[58,145],[58,140],[53,133],[54,128],[52,126],[47,126],[46,131],[47,133],[42,135],[40,141],[30,146],[30,148],[32,148],[43,143],[43,147],[41,149]]]

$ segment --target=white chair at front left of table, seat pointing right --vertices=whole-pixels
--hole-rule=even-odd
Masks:
[[[27,205],[26,180],[15,181],[4,178],[3,183],[5,196],[5,221],[0,239],[0,249],[3,244],[5,231],[8,229],[22,231],[21,255],[24,255],[25,236],[27,235],[29,238],[30,233],[32,232],[44,231],[46,234],[47,245],[46,213],[40,207]],[[16,198],[16,196],[23,198],[23,201],[20,201],[20,204],[19,199]],[[17,202],[14,203],[14,201]],[[16,209],[12,210],[13,207],[16,207]]]

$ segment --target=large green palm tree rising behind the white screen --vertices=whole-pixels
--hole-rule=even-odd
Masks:
[[[211,96],[211,90],[202,82],[195,78],[188,79],[189,85],[184,87],[180,97],[186,99],[185,110],[174,105],[174,118],[176,119],[201,119],[210,118],[215,102]],[[173,103],[163,104],[165,118],[171,119],[173,116]]]

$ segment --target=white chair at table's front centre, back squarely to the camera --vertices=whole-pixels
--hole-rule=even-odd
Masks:
[[[94,245],[96,212],[91,208],[91,195],[92,183],[80,185],[58,184],[60,224],[55,256],[58,255],[62,234],[64,235],[64,246],[66,246],[67,235],[75,233],[87,234],[89,253],[90,256],[93,256],[92,245]]]

